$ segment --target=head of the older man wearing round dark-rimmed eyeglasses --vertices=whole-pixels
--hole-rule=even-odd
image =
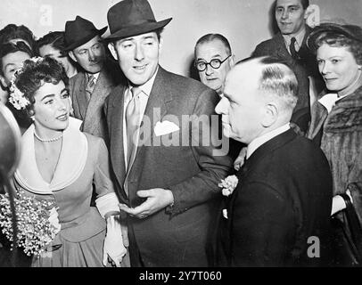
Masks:
[[[194,58],[202,83],[221,96],[226,73],[234,66],[234,55],[226,37],[220,34],[202,36],[195,45]]]

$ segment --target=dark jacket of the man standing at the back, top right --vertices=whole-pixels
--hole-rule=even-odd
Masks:
[[[317,67],[316,56],[309,52],[306,45],[307,37],[311,32],[311,28],[307,26],[306,35],[303,38],[302,45],[298,51],[300,59],[292,59],[292,55],[288,52],[284,37],[279,32],[275,37],[268,39],[257,45],[252,53],[253,57],[270,55],[279,58],[287,63],[295,73],[299,85],[299,98],[294,108],[292,122],[300,126],[303,132],[306,132],[310,120],[310,102],[309,102],[309,79],[313,77],[317,85],[317,94],[324,88],[323,78],[320,77]]]

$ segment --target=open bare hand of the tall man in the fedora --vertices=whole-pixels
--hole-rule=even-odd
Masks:
[[[140,219],[150,216],[174,202],[172,191],[162,188],[140,190],[137,191],[137,195],[147,199],[136,208],[128,208],[128,206],[124,204],[119,204],[119,209],[125,211],[130,216],[136,216]]]

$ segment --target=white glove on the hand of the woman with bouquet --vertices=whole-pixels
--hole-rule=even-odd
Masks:
[[[107,258],[110,257],[111,261],[117,267],[120,267],[123,256],[127,254],[122,240],[122,230],[118,216],[109,216],[107,218],[107,233],[103,244],[103,265],[107,265]]]

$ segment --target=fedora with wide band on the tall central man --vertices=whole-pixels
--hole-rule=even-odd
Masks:
[[[107,20],[111,35],[105,40],[112,41],[163,28],[172,18],[156,21],[147,0],[123,0],[111,6]]]

